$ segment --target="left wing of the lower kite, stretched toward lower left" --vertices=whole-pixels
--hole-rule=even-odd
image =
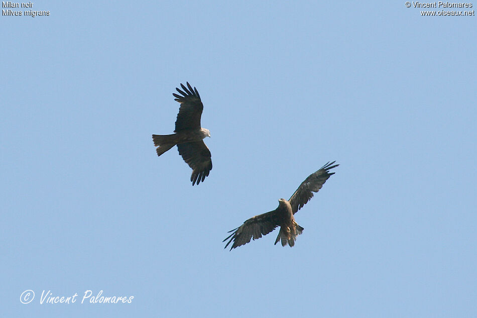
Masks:
[[[255,216],[247,221],[244,222],[243,225],[240,227],[228,231],[228,233],[233,232],[230,234],[225,240],[230,239],[225,245],[224,248],[233,241],[232,247],[230,251],[236,247],[245,245],[250,242],[253,238],[254,240],[260,239],[262,235],[267,235],[278,226],[277,214],[276,210]]]

